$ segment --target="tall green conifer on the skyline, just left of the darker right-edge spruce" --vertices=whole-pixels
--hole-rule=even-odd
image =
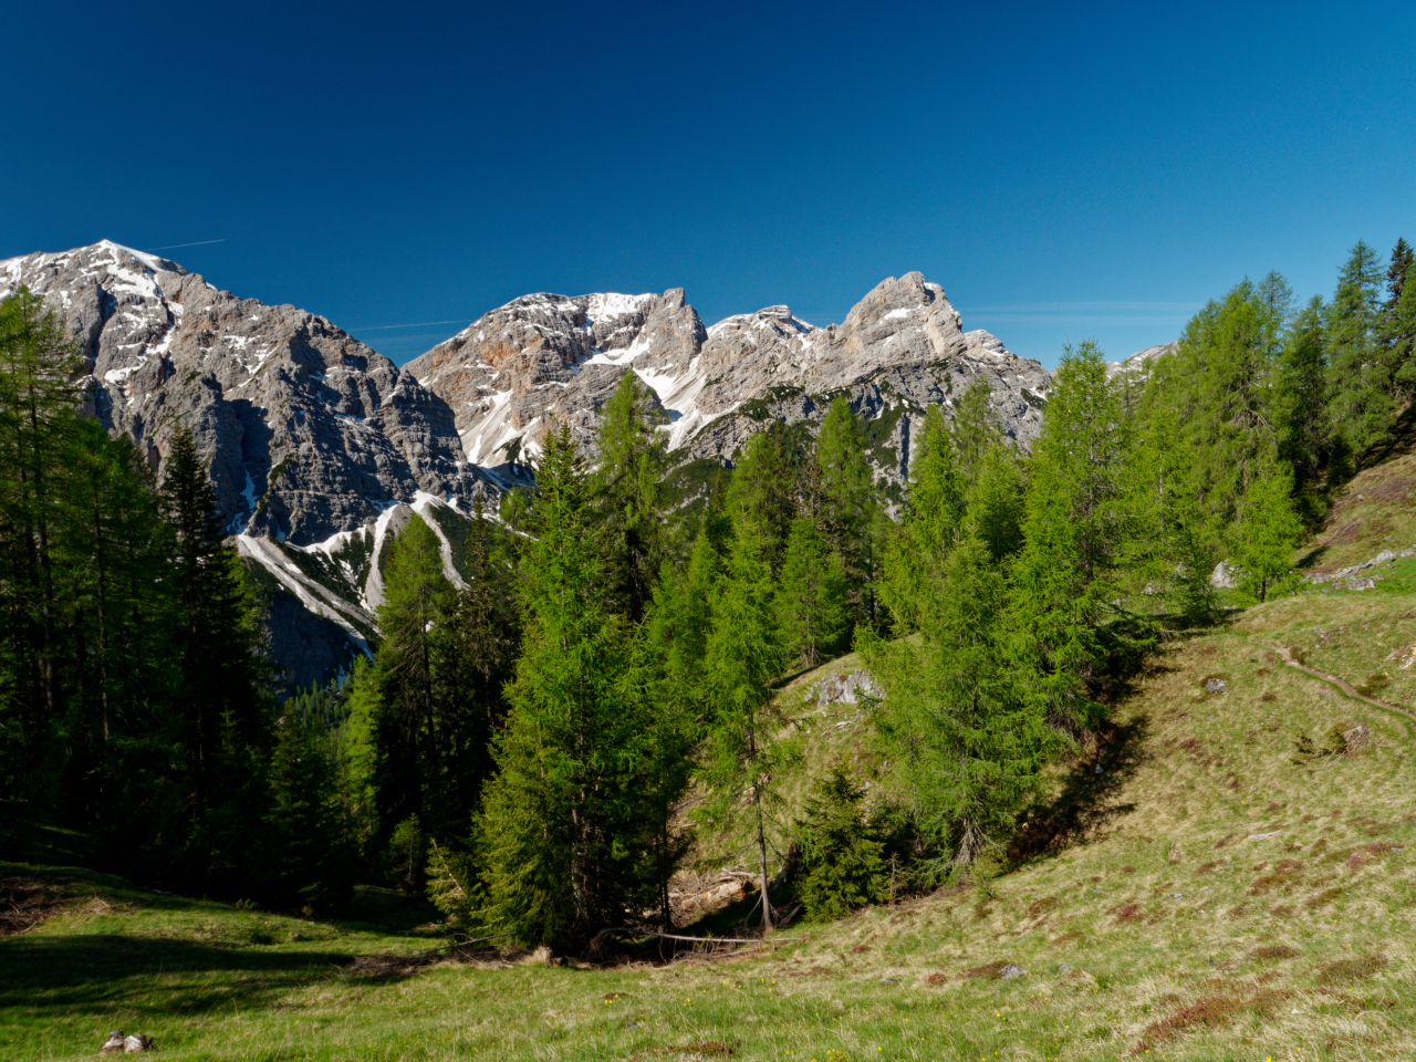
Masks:
[[[1358,241],[1328,306],[1330,408],[1358,462],[1388,440],[1395,413],[1395,367],[1379,343],[1381,279],[1376,252]]]

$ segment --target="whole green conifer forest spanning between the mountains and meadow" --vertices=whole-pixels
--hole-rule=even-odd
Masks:
[[[1405,430],[1412,248],[1358,244],[1337,278],[1307,303],[1243,280],[1138,368],[1069,347],[1031,447],[987,384],[956,392],[915,426],[902,503],[841,395],[670,504],[626,372],[593,464],[554,425],[534,486],[477,508],[464,586],[415,515],[372,654],[296,695],[193,438],[159,479],[85,416],[76,353],[21,289],[0,303],[0,847],[68,830],[96,869],[307,916],[372,884],[573,954],[690,932],[670,893],[709,835],[750,868],[753,933],[986,879],[1032,851],[1049,779],[1158,647],[1294,593],[1297,547]],[[841,760],[789,804],[777,691],[848,651],[879,770]]]

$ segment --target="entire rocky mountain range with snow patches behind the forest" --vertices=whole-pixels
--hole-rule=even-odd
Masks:
[[[177,425],[191,429],[219,517],[268,590],[287,687],[368,651],[381,556],[413,513],[460,582],[472,504],[481,496],[496,511],[501,493],[534,483],[552,418],[593,462],[599,411],[624,372],[653,392],[678,504],[731,467],[752,432],[770,421],[813,430],[837,395],[865,422],[878,481],[898,503],[930,404],[949,413],[983,378],[1003,430],[1027,445],[1051,382],[990,333],[964,331],[920,273],[886,278],[826,327],[786,306],[705,327],[680,287],[525,295],[402,368],[326,317],[241,299],[110,241],[0,262],[0,297],[20,285],[84,357],[85,411],[143,446],[156,472]]]

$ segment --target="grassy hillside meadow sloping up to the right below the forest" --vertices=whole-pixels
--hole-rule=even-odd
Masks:
[[[1400,460],[1354,480],[1364,497],[1335,520],[1365,530],[1324,566],[1386,535],[1416,542],[1405,494],[1371,489]],[[0,939],[0,1058],[91,1056],[113,1028],[174,1059],[1416,1056],[1416,724],[1280,653],[1416,711],[1416,667],[1400,667],[1416,565],[1386,573],[1376,590],[1300,593],[1165,644],[1095,756],[1059,776],[1055,807],[1029,823],[1039,854],[1010,874],[793,926],[732,959],[370,961],[432,947],[435,927],[413,925],[426,909],[368,902],[362,922],[307,922],[0,864],[23,930]],[[860,709],[807,695],[854,666],[782,694],[801,749],[789,807],[835,756],[868,760]],[[1355,726],[1365,745],[1324,750]],[[718,840],[715,858],[732,847]],[[24,929],[40,908],[50,918]],[[1008,964],[1024,973],[1003,977]]]

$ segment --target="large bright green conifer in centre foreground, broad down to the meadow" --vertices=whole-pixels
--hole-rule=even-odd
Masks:
[[[524,637],[486,790],[487,918],[527,942],[583,942],[623,918],[640,858],[627,776],[626,636],[592,541],[569,429],[547,436],[518,579]]]

